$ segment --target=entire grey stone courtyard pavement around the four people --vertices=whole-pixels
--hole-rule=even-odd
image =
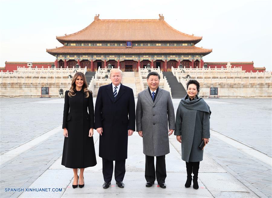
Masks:
[[[175,109],[179,99],[173,99]],[[125,188],[116,187],[114,179],[112,187],[104,190],[102,188],[102,160],[97,155],[98,164],[85,170],[85,187],[73,189],[72,170],[60,165],[63,135],[60,129],[62,120],[63,99],[1,99],[1,197],[271,197],[271,164],[264,163],[260,158],[253,157],[237,146],[228,144],[228,140],[218,138],[217,133],[226,135],[226,138],[237,138],[237,144],[250,146],[249,149],[259,152],[260,156],[265,154],[271,159],[269,152],[269,138],[271,130],[262,133],[262,130],[271,128],[269,113],[269,100],[259,99],[206,99],[212,110],[211,116],[211,141],[205,147],[204,160],[200,162],[199,190],[185,188],[186,167],[181,160],[180,144],[175,136],[170,136],[170,154],[166,156],[167,178],[166,189],[153,186],[145,187],[144,179],[144,154],[142,154],[142,140],[137,132],[129,137],[128,159],[126,161],[126,175],[124,179]],[[94,100],[95,102],[95,100]],[[3,104],[5,104],[3,107]],[[245,105],[250,104],[250,105]],[[254,104],[258,112],[251,115]],[[270,102],[271,104],[271,102]],[[21,108],[24,106],[24,108]],[[25,108],[25,106],[27,108]],[[228,108],[225,108],[227,106]],[[17,114],[13,125],[14,109]],[[229,116],[239,113],[242,109],[239,122]],[[42,112],[41,112],[42,111]],[[8,118],[4,119],[5,115]],[[250,116],[249,116],[250,115]],[[256,117],[263,115],[261,118]],[[20,117],[21,116],[21,117]],[[221,118],[224,117],[224,120]],[[244,119],[250,117],[247,123]],[[254,125],[261,122],[262,128]],[[269,120],[270,119],[270,120]],[[43,122],[44,121],[44,122]],[[230,121],[231,124],[230,124]],[[226,123],[227,122],[227,123]],[[12,135],[13,129],[20,129],[16,125],[20,123],[24,131]],[[28,123],[30,123],[28,125]],[[50,123],[50,124],[49,124]],[[50,126],[49,126],[50,125]],[[33,127],[35,126],[35,127]],[[39,131],[41,127],[42,130]],[[223,127],[221,127],[223,126]],[[5,136],[3,128],[5,128]],[[44,141],[36,141],[29,145],[29,149],[18,154],[14,158],[2,163],[2,159],[8,151],[13,151],[18,146],[30,140],[35,141],[37,137],[55,128],[57,133],[49,136]],[[249,129],[248,131],[244,130]],[[254,131],[250,130],[254,128]],[[240,129],[239,133],[235,130]],[[32,131],[32,133],[31,133]],[[216,132],[217,131],[217,132]],[[40,132],[40,133],[39,133]],[[258,135],[256,135],[258,134]],[[237,135],[237,136],[236,136]],[[252,136],[255,141],[250,142]],[[5,139],[7,138],[7,139]],[[95,132],[95,140],[99,135]],[[271,138],[270,138],[271,139]],[[222,141],[223,140],[223,141]],[[264,144],[260,144],[261,142]],[[11,141],[9,143],[9,141]],[[268,141],[268,143],[267,143]],[[15,143],[14,143],[15,142]],[[96,153],[98,154],[99,141],[95,141]],[[250,144],[249,144],[250,143]],[[5,149],[2,149],[2,146]],[[259,151],[257,151],[259,150]],[[271,153],[271,152],[270,152]],[[155,183],[156,184],[156,183]],[[5,188],[51,188],[50,192],[5,192]],[[57,188],[61,192],[52,192]],[[57,190],[55,189],[55,190]]]

